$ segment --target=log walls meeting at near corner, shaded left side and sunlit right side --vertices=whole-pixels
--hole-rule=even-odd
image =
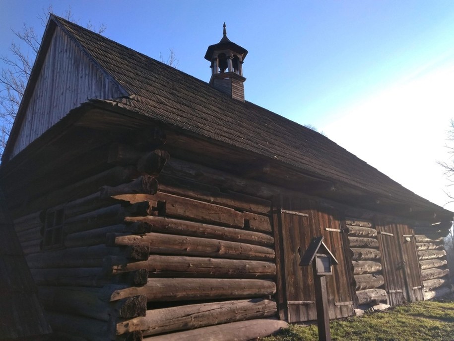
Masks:
[[[140,340],[277,313],[269,299],[276,292],[269,200],[174,175],[157,192],[154,176],[165,152],[116,145],[105,153],[111,168],[63,186],[50,183],[45,195],[37,189],[26,215],[15,218],[58,335],[86,339],[96,330],[105,340]],[[21,200],[11,200],[15,212]],[[43,250],[46,221],[58,212],[64,212],[61,245]],[[175,318],[150,328],[161,312],[172,320],[174,312],[201,306],[220,307],[219,316],[198,313],[192,324]],[[72,320],[74,330],[62,325]],[[143,323],[125,328],[133,321]]]

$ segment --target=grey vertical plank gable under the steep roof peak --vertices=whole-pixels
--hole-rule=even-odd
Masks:
[[[122,94],[121,89],[104,77],[97,66],[57,27],[11,157],[88,99],[116,98]]]

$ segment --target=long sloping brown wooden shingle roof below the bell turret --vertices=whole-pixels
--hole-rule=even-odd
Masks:
[[[445,220],[453,216],[322,134],[251,102],[232,99],[206,82],[65,19],[52,15],[50,20],[128,92],[128,97],[108,101],[112,105],[308,175],[432,210]]]

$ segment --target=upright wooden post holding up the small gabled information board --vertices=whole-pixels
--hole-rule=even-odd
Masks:
[[[331,341],[328,315],[328,294],[326,292],[326,278],[317,274],[316,262],[312,263],[315,284],[315,303],[317,306],[317,328],[319,341]]]

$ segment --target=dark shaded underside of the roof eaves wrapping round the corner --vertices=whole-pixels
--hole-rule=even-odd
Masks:
[[[102,104],[102,105],[101,105]],[[132,143],[133,137],[137,134],[137,130],[145,131],[152,129],[156,126],[156,122],[147,118],[143,115],[139,115],[130,110],[126,110],[119,106],[113,107],[112,104],[99,102],[90,102],[83,104],[81,107],[72,110],[64,119],[57,123],[54,127],[49,129],[45,134],[33,142],[27,151],[24,151],[23,157],[26,155],[32,155],[34,159],[38,160],[41,157],[45,157],[40,154],[40,150],[50,142],[58,143],[65,134],[62,131],[67,130],[67,127],[75,126],[80,128],[90,128],[93,132],[108,131],[112,139],[116,136],[123,136],[122,141]],[[109,111],[107,111],[109,110]],[[99,126],[98,123],[101,122]],[[147,128],[148,127],[148,128]],[[63,128],[63,130],[62,130]],[[115,128],[112,130],[112,128]],[[169,127],[160,124],[159,129],[165,131],[167,135],[167,144],[163,146],[163,150],[170,151],[172,159],[182,158],[185,160],[190,159],[192,162],[200,165],[206,165],[207,167],[216,167],[219,170],[227,171],[235,174],[235,169],[238,170],[239,165],[244,165],[247,161],[248,164],[251,162],[258,162],[261,165],[269,163],[269,173],[264,174],[260,181],[257,181],[257,185],[261,186],[262,190],[260,196],[262,198],[271,199],[275,195],[286,192],[294,196],[304,196],[321,200],[327,203],[328,206],[335,206],[339,209],[344,209],[345,212],[356,212],[348,213],[347,215],[373,218],[377,214],[380,216],[389,216],[393,221],[410,221],[410,225],[414,225],[417,221],[423,221],[426,224],[436,222],[437,220],[450,220],[451,212],[443,210],[437,212],[437,219],[433,219],[433,215],[426,216],[424,211],[420,215],[414,214],[403,214],[402,211],[392,211],[385,209],[385,202],[387,199],[382,195],[369,193],[368,191],[362,190],[360,187],[354,187],[351,184],[342,183],[340,181],[332,181],[327,178],[323,178],[321,175],[304,173],[291,165],[283,164],[282,161],[270,162],[265,157],[260,157],[257,154],[248,152],[245,150],[232,149],[232,146],[222,145],[215,141],[207,141],[202,137],[190,135],[183,131],[172,131],[174,127]],[[107,136],[106,136],[107,137]],[[178,140],[179,143],[175,144]],[[189,141],[191,143],[189,143]],[[209,151],[210,155],[207,157],[204,155],[204,146],[212,144]],[[178,148],[170,148],[169,145],[177,145]],[[189,146],[189,147],[188,147]],[[186,149],[183,149],[186,148]],[[188,148],[190,151],[188,152]],[[31,152],[33,151],[33,154]],[[19,165],[24,165],[22,157],[14,158],[7,167],[2,167],[2,176],[4,174],[14,174],[14,168]],[[218,161],[220,162],[218,164]],[[20,167],[20,166],[19,166]],[[165,168],[168,168],[166,166]],[[256,181],[254,177],[249,178],[250,181]],[[223,188],[222,185],[218,184],[219,188]],[[265,188],[266,187],[266,188]],[[272,189],[274,188],[274,189]],[[333,190],[334,189],[334,190]],[[256,193],[259,194],[259,193]],[[362,196],[361,196],[362,195]],[[379,205],[364,205],[364,197],[367,198],[368,202],[372,203],[379,200]],[[360,198],[362,198],[360,200]],[[359,202],[358,202],[359,200]],[[436,205],[433,205],[436,209]],[[356,207],[356,208],[355,208]],[[371,211],[367,213],[368,211]],[[396,217],[397,216],[397,217]]]

